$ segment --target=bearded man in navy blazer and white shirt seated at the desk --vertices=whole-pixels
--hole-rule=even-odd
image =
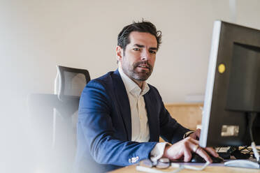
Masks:
[[[205,150],[217,153],[198,147],[200,130],[191,133],[175,121],[157,89],[145,82],[152,74],[161,31],[150,22],[134,22],[122,29],[117,41],[118,69],[82,91],[75,172],[106,172],[145,158],[187,162],[192,152],[211,162]],[[159,142],[159,136],[166,142]]]

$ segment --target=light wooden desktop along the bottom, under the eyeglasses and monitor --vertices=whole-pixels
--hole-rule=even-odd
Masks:
[[[180,173],[189,173],[189,172],[197,172],[197,173],[210,173],[210,172],[216,172],[216,173],[229,173],[229,172],[238,172],[238,173],[260,173],[260,170],[257,169],[247,169],[247,168],[239,168],[239,167],[225,167],[224,165],[217,164],[218,166],[209,165],[202,171],[196,171],[196,170],[181,170]],[[155,168],[154,168],[155,169]],[[177,168],[168,168],[166,170],[160,170],[160,171],[165,171],[165,172],[171,172],[173,170],[176,170]],[[136,172],[136,165],[131,165],[128,167],[123,167],[121,169],[115,170],[111,173],[129,173],[129,172]]]

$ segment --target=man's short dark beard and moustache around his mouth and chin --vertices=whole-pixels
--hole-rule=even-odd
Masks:
[[[140,66],[146,66],[147,70],[138,70],[137,68]],[[145,81],[152,74],[152,70],[153,67],[150,65],[150,63],[148,63],[147,61],[139,61],[133,63],[133,66],[131,66],[131,68],[128,68],[127,72],[124,70],[124,73],[127,73],[127,75],[129,75],[129,77],[133,78],[134,80]]]

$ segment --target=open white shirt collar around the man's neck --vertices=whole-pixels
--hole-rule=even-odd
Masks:
[[[138,84],[136,84],[135,82],[133,82],[133,80],[131,80],[126,74],[124,74],[124,71],[122,70],[121,67],[121,63],[118,63],[118,71],[120,73],[120,76],[124,82],[124,87],[126,87],[127,89],[127,93],[131,93],[134,96],[143,96],[145,95],[145,93],[147,93],[150,88],[147,84],[147,82],[143,82],[143,89],[140,89],[140,87],[138,86]]]

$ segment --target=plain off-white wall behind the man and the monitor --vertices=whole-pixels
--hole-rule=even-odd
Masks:
[[[236,3],[235,15],[229,2]],[[149,82],[165,103],[174,103],[205,91],[213,21],[260,29],[259,9],[258,0],[0,1],[1,128],[5,129],[0,136],[9,141],[3,142],[1,156],[5,160],[15,156],[20,169],[31,164],[24,159],[33,146],[24,142],[30,138],[28,117],[21,114],[26,96],[53,92],[57,64],[85,68],[92,79],[115,70],[117,34],[133,20],[150,20],[162,31]]]

